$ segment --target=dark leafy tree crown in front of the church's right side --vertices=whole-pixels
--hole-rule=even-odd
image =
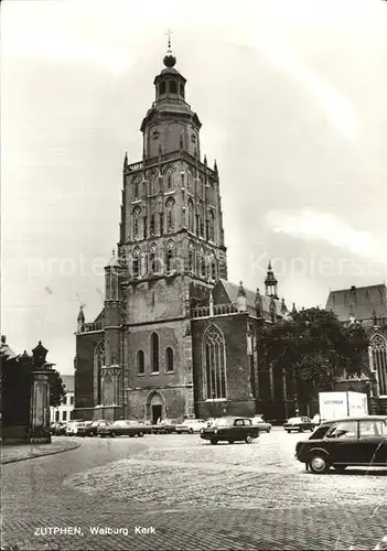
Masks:
[[[361,375],[368,339],[364,328],[347,327],[330,311],[311,307],[288,320],[262,324],[257,338],[261,369],[270,365],[297,381],[301,393],[331,390],[343,374]]]

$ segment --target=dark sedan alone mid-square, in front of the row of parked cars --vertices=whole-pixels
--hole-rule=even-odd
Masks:
[[[251,419],[241,417],[223,417],[216,419],[211,426],[201,430],[201,439],[209,440],[212,444],[221,441],[234,444],[236,441],[245,441],[250,444],[259,436],[258,426],[254,426]]]

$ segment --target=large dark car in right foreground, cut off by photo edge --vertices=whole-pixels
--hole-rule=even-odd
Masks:
[[[295,457],[312,473],[347,466],[387,468],[387,415],[350,417],[323,422],[295,445]]]

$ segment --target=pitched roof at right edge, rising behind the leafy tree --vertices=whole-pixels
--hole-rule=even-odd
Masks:
[[[326,310],[333,311],[341,322],[353,314],[356,320],[387,316],[387,288],[384,283],[368,287],[352,287],[331,291]]]

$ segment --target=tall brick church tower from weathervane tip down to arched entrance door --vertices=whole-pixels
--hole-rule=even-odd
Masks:
[[[193,413],[191,307],[227,279],[217,165],[202,160],[202,123],[170,40],[163,64],[140,127],[142,160],[123,159],[123,350],[110,353],[123,358],[123,414],[152,421]]]

